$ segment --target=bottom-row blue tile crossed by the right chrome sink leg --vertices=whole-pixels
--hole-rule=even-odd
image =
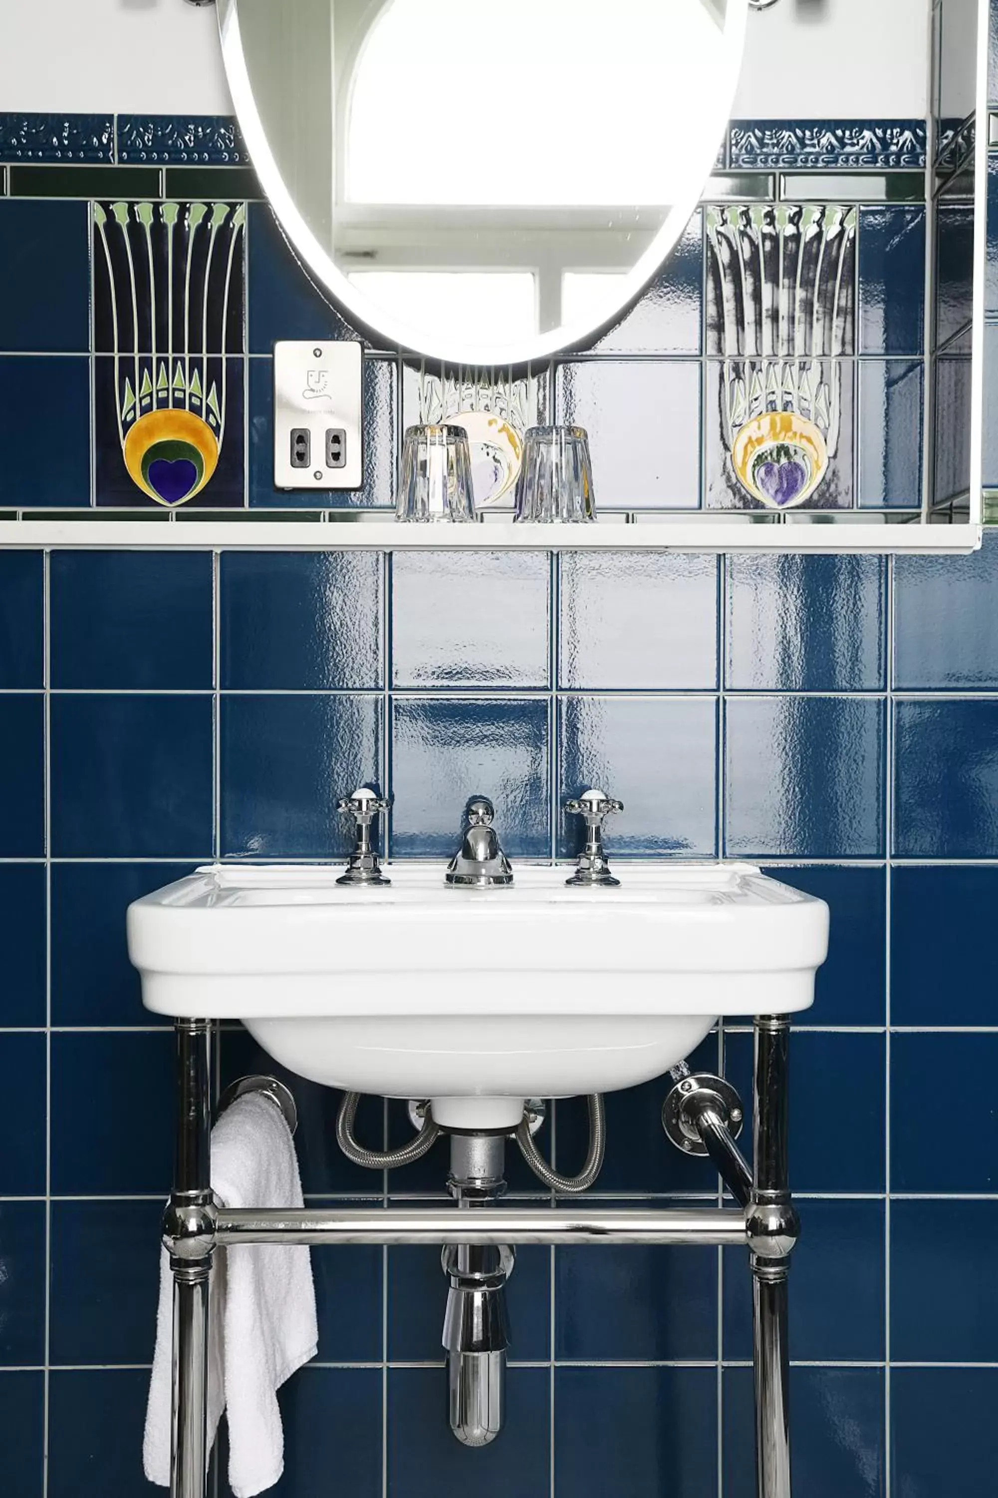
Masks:
[[[724,1498],[756,1498],[753,1411],[751,1368],[727,1368]],[[795,1492],[806,1498],[884,1498],[883,1369],[793,1368],[790,1422]]]

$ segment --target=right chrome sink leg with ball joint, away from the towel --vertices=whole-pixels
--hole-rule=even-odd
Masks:
[[[759,1498],[790,1498],[787,1276],[799,1221],[787,1177],[790,1020],[756,1019],[756,1149],[747,1210],[756,1348]]]

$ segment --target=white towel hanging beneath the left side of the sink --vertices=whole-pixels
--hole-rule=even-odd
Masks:
[[[301,1207],[290,1129],[269,1098],[247,1094],[211,1131],[211,1185],[226,1207]],[[174,1284],[160,1264],[156,1354],[145,1417],[144,1465],[169,1488]],[[316,1291],[308,1248],[277,1243],[215,1251],[208,1345],[208,1450],[229,1414],[229,1486],[236,1498],[272,1488],[284,1470],[275,1392],[316,1356]]]

